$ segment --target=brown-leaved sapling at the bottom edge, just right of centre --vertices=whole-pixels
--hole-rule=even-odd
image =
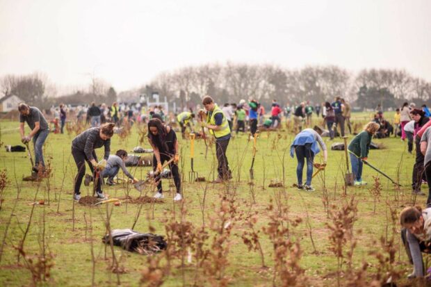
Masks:
[[[263,227],[263,232],[268,235],[274,249],[274,274],[273,286],[307,286],[307,277],[304,269],[300,267],[302,250],[299,240],[295,242],[290,236],[288,222],[292,227],[298,226],[301,220],[289,220],[288,208],[284,207],[282,213],[276,211],[273,204],[268,207],[270,221],[267,227]],[[281,284],[276,284],[276,279]]]

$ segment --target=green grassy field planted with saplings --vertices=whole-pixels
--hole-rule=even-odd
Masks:
[[[365,122],[369,117],[370,114],[356,114],[354,120]],[[17,122],[0,122],[3,145],[20,144],[17,126]],[[115,135],[111,151],[131,151],[140,145],[136,126],[131,131],[127,138]],[[22,181],[22,177],[30,175],[26,153],[0,149],[0,169],[6,170],[8,179],[1,195],[0,286],[26,286],[33,281],[41,286],[114,286],[119,282],[121,286],[158,286],[160,277],[163,286],[347,286],[359,274],[364,276],[362,281],[384,281],[388,271],[393,272],[393,279],[399,276],[399,282],[405,284],[404,278],[412,270],[391,211],[398,215],[403,206],[414,201],[423,205],[426,198],[412,198],[409,184],[414,156],[407,154],[407,143],[399,138],[375,140],[383,149],[371,150],[368,159],[399,180],[401,188],[395,188],[384,177],[380,177],[380,187],[373,188],[373,177],[378,174],[364,166],[368,186],[348,187],[345,195],[345,154],[330,150],[325,172],[313,180],[316,191],[298,191],[293,187],[296,159],[289,156],[294,135],[284,129],[261,133],[252,184],[248,171],[252,141],[248,142],[246,135],[229,143],[227,155],[234,180],[226,185],[189,183],[190,142],[180,139],[185,198],[182,204],[173,202],[172,182],[164,180],[163,203],[140,205],[123,200],[120,206],[106,204],[97,208],[72,201],[76,166],[70,145],[74,136],[75,133],[49,135],[44,154],[52,175],[39,183]],[[330,148],[332,142],[325,140]],[[143,147],[149,148],[147,140]],[[207,159],[203,140],[195,142],[195,149],[195,170],[200,177],[212,179],[214,147],[209,147]],[[102,152],[98,150],[97,154],[101,156]],[[322,161],[321,154],[316,161]],[[148,170],[149,167],[138,167],[131,172],[144,178]],[[269,188],[271,181],[281,181],[284,188]],[[423,190],[426,193],[426,186]],[[139,196],[127,184],[106,186],[104,191],[110,197]],[[81,192],[91,195],[91,186],[82,186]],[[145,192],[152,196],[154,188]],[[29,205],[35,199],[44,199],[45,204]],[[356,205],[357,212],[352,212]],[[140,208],[134,230],[168,234],[169,252],[144,256],[114,247],[112,253],[111,247],[101,242],[106,234],[106,213],[112,212],[111,229],[125,229],[132,227]],[[178,229],[176,236],[172,236],[172,228]],[[248,249],[243,240],[252,231],[257,233],[256,250]],[[208,238],[202,238],[205,232]],[[24,234],[25,258],[17,251]],[[384,238],[383,244],[380,238]],[[112,272],[113,254],[120,274]],[[379,262],[376,257],[393,260]],[[53,265],[44,268],[49,277],[39,282],[37,277],[43,272],[38,267],[44,264],[38,262],[43,258]],[[202,264],[197,265],[196,259]],[[361,269],[364,262],[368,263],[365,271]]]

